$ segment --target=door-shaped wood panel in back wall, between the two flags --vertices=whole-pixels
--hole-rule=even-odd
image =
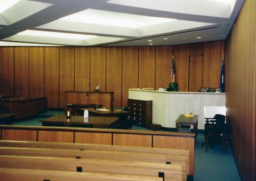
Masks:
[[[198,92],[204,82],[204,56],[189,57],[189,92]]]

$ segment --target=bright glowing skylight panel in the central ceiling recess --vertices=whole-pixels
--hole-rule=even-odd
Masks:
[[[147,25],[172,22],[172,18],[147,17],[141,15],[132,15],[127,13],[116,13],[113,11],[87,9],[60,18],[72,22],[82,22],[89,24],[113,25],[118,27],[140,28]]]

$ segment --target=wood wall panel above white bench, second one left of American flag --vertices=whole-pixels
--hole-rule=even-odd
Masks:
[[[155,88],[156,47],[139,47],[139,87]]]

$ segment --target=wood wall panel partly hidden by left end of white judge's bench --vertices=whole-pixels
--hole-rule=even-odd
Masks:
[[[127,106],[128,89],[138,87],[138,47],[123,47],[122,62],[122,106]]]

